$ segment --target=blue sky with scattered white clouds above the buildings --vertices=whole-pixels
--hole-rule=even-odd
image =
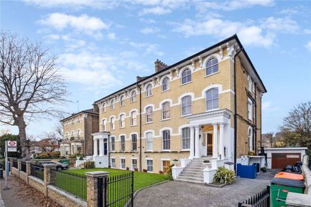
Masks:
[[[156,59],[171,65],[233,34],[267,88],[263,132],[311,100],[311,1],[1,0],[0,27],[58,57],[68,113],[151,75]],[[57,121],[32,121],[27,132],[40,137]]]

